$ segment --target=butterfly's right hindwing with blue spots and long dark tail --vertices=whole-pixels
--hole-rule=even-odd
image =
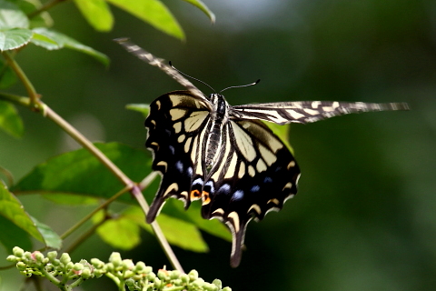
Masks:
[[[223,156],[205,181],[202,215],[222,220],[233,234],[231,265],[238,266],[247,224],[280,210],[297,193],[300,169],[279,137],[260,121],[224,127]]]

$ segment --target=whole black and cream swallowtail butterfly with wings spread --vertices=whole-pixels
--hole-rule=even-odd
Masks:
[[[247,224],[282,209],[297,193],[300,168],[261,120],[306,124],[336,115],[409,109],[405,103],[327,101],[232,106],[221,94],[204,95],[163,59],[127,39],[115,41],[186,88],[155,99],[145,120],[145,146],[154,154],[153,169],[162,174],[147,222],[154,221],[169,197],[183,200],[185,208],[201,199],[203,218],[218,218],[232,231],[233,267],[241,261]]]

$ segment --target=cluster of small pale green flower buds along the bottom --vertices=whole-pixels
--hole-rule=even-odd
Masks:
[[[14,247],[13,254],[8,256],[7,260],[15,262],[21,274],[45,276],[55,285],[57,285],[56,282],[61,282],[55,279],[59,276],[63,277],[62,282],[76,280],[72,286],[78,286],[78,283],[82,283],[85,279],[105,275],[110,277],[117,286],[127,286],[129,291],[232,291],[230,287],[223,287],[219,279],[213,280],[212,283],[204,282],[195,270],[182,274],[177,270],[169,271],[163,268],[155,274],[151,266],[145,266],[143,262],[134,264],[130,259],[122,259],[116,252],[109,257],[108,263],[93,258],[91,264],[85,260],[73,263],[66,253],[57,258],[55,251],[44,256],[38,251],[25,252],[17,246]]]

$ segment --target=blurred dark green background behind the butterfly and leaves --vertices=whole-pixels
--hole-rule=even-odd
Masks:
[[[233,290],[436,289],[436,2],[430,0],[205,1],[198,9],[165,1],[186,33],[180,42],[113,7],[114,30],[97,33],[66,2],[50,11],[54,28],[109,55],[105,69],[71,50],[28,47],[17,57],[43,100],[94,141],[143,147],[144,118],[124,109],[181,89],[112,39],[130,36],[186,74],[221,90],[233,105],[297,100],[408,102],[409,112],[335,117],[292,125],[302,168],[299,193],[280,213],[248,226],[241,266],[231,245],[204,235],[211,251],[175,248],[185,270]],[[210,93],[198,85],[204,93]],[[16,85],[14,92],[25,94]],[[19,108],[25,136],[0,132],[0,165],[15,179],[48,157],[76,148],[50,121]],[[27,210],[62,233],[86,207],[20,197]],[[153,236],[122,256],[154,269],[168,265]],[[74,260],[114,251],[97,236]],[[0,256],[6,256],[4,249]],[[7,274],[7,275],[6,275]],[[0,274],[18,290],[16,270]],[[78,290],[114,290],[105,279]],[[105,284],[107,283],[107,286]],[[103,284],[103,286],[102,286]]]

